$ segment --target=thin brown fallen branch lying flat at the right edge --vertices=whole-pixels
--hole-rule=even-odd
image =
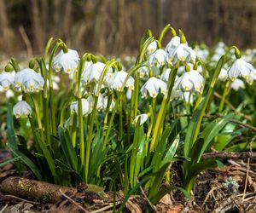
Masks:
[[[256,153],[252,153],[252,152],[242,152],[242,153],[213,152],[213,153],[205,153],[205,154],[203,154],[202,158],[203,159],[210,159],[210,158],[247,159],[247,158],[256,158]]]

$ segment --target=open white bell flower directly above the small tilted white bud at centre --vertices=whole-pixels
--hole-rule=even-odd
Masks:
[[[151,77],[148,81],[143,85],[141,89],[141,93],[143,97],[147,97],[147,92],[150,97],[155,98],[161,90],[163,95],[166,95],[167,92],[167,84],[155,77]]]

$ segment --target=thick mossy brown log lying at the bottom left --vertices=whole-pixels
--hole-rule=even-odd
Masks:
[[[44,181],[33,181],[21,177],[9,177],[0,184],[0,192],[13,194],[18,197],[32,198],[45,202],[55,203],[61,201],[62,193],[69,196],[77,193],[74,187],[61,187]]]

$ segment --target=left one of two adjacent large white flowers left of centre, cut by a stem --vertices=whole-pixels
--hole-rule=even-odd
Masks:
[[[105,67],[105,64],[100,61],[97,61],[95,64],[88,63],[87,66],[84,66],[83,81],[85,83],[90,83],[92,81],[98,83],[104,67]],[[111,78],[112,74],[113,74],[112,69],[109,68],[107,72],[108,78]]]

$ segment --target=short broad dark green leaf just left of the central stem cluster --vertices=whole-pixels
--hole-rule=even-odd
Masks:
[[[64,128],[59,127],[58,132],[61,140],[61,147],[63,153],[65,154],[65,157],[67,158],[68,164],[71,165],[73,170],[78,171],[78,156],[76,151],[74,150],[71,138],[68,135],[67,130],[64,130]]]

